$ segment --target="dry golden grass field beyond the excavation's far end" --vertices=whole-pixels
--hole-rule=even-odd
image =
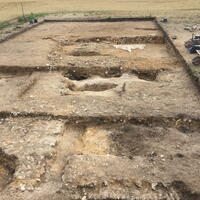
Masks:
[[[0,0],[0,22],[20,16],[20,2],[25,14],[93,11],[132,16],[200,16],[200,0]]]

